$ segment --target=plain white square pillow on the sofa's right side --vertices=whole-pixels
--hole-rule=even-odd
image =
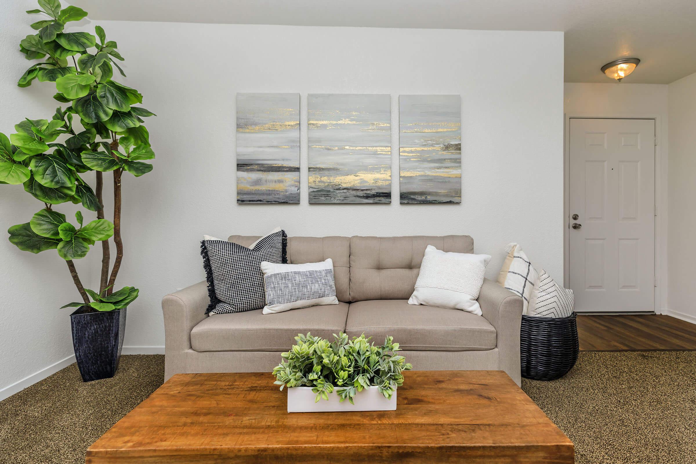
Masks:
[[[428,245],[409,305],[451,307],[480,316],[476,299],[490,260],[489,255],[447,253]]]

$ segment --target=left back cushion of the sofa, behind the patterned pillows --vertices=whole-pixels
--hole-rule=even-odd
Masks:
[[[249,235],[231,235],[228,241],[249,246],[259,237]],[[425,247],[423,247],[425,250]],[[350,301],[350,238],[349,237],[288,237],[287,262],[305,264],[333,261],[333,279],[338,301]]]

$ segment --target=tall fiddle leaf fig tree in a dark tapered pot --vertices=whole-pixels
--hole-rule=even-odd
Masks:
[[[62,8],[59,0],[38,0],[38,6],[26,12],[40,16],[31,24],[35,32],[19,43],[24,58],[35,63],[17,84],[52,82],[54,99],[63,105],[50,120],[19,117],[9,138],[0,133],[0,184],[21,184],[43,205],[29,222],[10,227],[9,239],[31,253],[55,249],[68,265],[82,301],[63,307],[77,307],[70,315],[75,356],[83,380],[92,381],[115,374],[126,308],[138,297],[134,287],[114,290],[123,259],[122,175],[140,177],[152,170],[143,162],[155,158],[143,118],[154,114],[139,106],[138,90],[113,79],[114,68],[125,77],[118,65],[124,58],[104,29],[95,26],[93,34],[70,28],[70,22],[86,17],[84,10]],[[104,211],[104,173],[113,175],[113,222]],[[67,202],[81,204],[95,219],[85,221],[78,211],[76,222],[68,221],[58,211]],[[82,285],[74,261],[97,241],[102,269],[99,291],[93,291]]]

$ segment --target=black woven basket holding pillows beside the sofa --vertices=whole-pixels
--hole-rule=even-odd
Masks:
[[[578,360],[576,314],[569,317],[522,316],[520,361],[522,376],[553,381],[568,373]]]

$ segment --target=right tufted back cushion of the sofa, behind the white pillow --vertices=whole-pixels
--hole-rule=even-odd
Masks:
[[[447,252],[474,252],[468,235],[351,237],[350,301],[408,299],[428,245]]]

